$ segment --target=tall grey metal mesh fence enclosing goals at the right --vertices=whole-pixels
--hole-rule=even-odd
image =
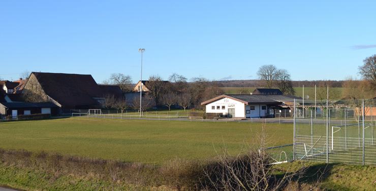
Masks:
[[[376,100],[296,100],[294,160],[376,165]],[[298,112],[297,112],[298,111]]]

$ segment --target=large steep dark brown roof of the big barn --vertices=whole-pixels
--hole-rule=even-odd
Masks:
[[[91,75],[32,72],[43,91],[62,106],[99,105],[103,92]]]

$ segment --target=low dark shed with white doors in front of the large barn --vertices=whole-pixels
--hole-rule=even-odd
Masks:
[[[0,116],[21,116],[30,114],[50,113],[57,116],[59,106],[54,103],[33,103],[33,102],[2,102],[0,103]]]

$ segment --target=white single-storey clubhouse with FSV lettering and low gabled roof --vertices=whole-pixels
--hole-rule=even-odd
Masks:
[[[291,95],[221,95],[202,102],[206,113],[221,113],[228,118],[274,117],[274,109],[301,99]]]

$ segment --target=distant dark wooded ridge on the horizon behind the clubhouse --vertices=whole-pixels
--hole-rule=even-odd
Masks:
[[[216,81],[220,87],[260,87],[259,80],[226,80],[226,81]],[[341,88],[344,81],[329,81],[330,87]],[[325,81],[292,81],[293,87],[315,87],[324,84]]]

